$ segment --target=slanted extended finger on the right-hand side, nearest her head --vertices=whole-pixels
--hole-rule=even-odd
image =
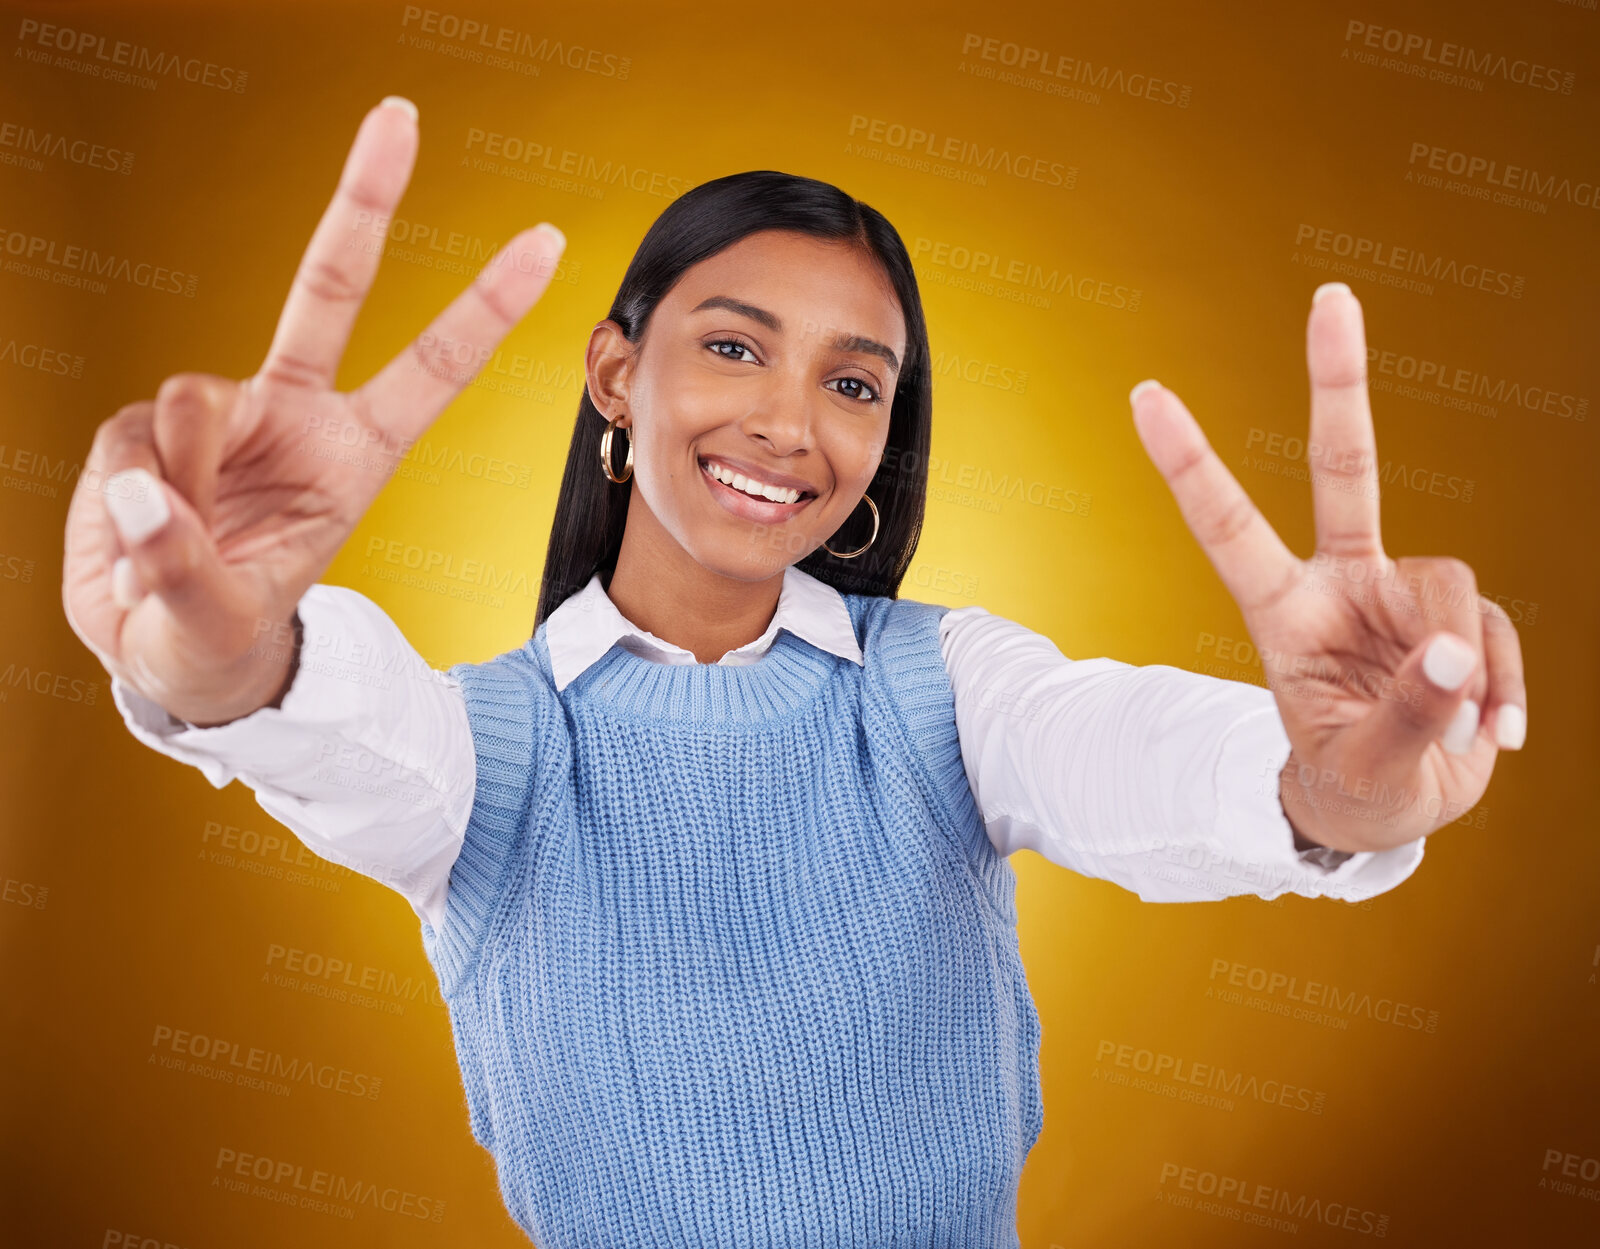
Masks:
[[[1294,589],[1301,561],[1211,449],[1182,400],[1157,382],[1141,382],[1131,401],[1146,453],[1234,601],[1248,613]]]

